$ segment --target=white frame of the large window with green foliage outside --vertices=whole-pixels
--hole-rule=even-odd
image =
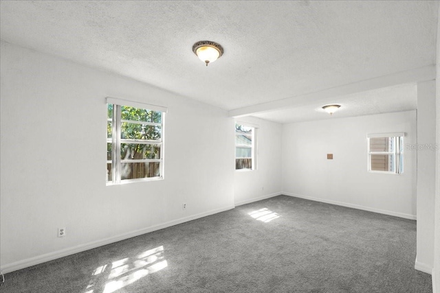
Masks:
[[[111,181],[108,180],[107,174],[107,185],[119,185],[123,183],[133,183],[140,181],[151,181],[151,180],[162,180],[164,179],[164,125],[165,125],[165,113],[168,109],[163,106],[156,106],[151,104],[144,104],[140,102],[133,102],[126,99],[117,99],[113,97],[107,97],[107,105],[113,104],[113,118],[107,121],[112,122],[112,134],[111,138],[107,138],[107,143],[111,143],[112,152],[111,160],[107,160],[107,163],[111,163]],[[121,107],[130,106],[133,108],[140,108],[145,110],[153,110],[156,112],[161,112],[161,123],[146,122],[146,121],[131,121],[121,119]],[[160,140],[140,140],[140,139],[122,139],[121,138],[121,125],[122,123],[130,124],[142,124],[148,126],[161,126],[161,139]],[[136,143],[136,144],[146,144],[146,145],[160,145],[160,155],[159,159],[131,159],[124,160],[121,159],[121,144],[122,143]],[[122,180],[122,163],[159,163],[159,176],[146,177],[146,178],[134,178],[134,179],[124,179]]]

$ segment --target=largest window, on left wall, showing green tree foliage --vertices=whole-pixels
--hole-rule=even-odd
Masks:
[[[107,183],[163,178],[165,112],[107,98]]]

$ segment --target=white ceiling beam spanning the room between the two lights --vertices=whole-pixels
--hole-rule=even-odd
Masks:
[[[378,78],[371,78],[369,80],[362,80],[360,82],[344,84],[343,86],[336,86],[331,89],[316,91],[314,93],[307,93],[305,95],[287,97],[285,99],[278,99],[276,101],[263,104],[236,108],[230,110],[228,112],[228,115],[229,117],[243,117],[256,113],[270,112],[282,108],[294,108],[298,106],[304,106],[311,102],[317,102],[320,99],[329,99],[331,97],[340,97],[342,95],[350,95],[353,93],[360,93],[373,89],[382,89],[384,87],[395,86],[397,84],[407,84],[411,82],[434,80],[436,77],[435,70],[435,65],[429,65],[426,67],[420,67],[408,71],[401,71],[389,75],[380,76]]]

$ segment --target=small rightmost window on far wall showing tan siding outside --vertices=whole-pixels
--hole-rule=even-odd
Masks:
[[[404,133],[369,134],[369,171],[388,174],[404,172]]]

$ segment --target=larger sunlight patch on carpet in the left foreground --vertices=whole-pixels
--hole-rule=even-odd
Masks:
[[[102,288],[95,288],[94,290],[103,293],[115,292],[126,285],[146,277],[147,274],[158,272],[167,266],[168,263],[164,257],[164,246],[158,246],[146,250],[144,253],[140,253],[140,255],[113,261],[111,263],[111,270],[106,270],[107,264],[96,268],[93,275],[98,279],[106,278],[109,281],[105,284],[104,290]],[[104,272],[107,272],[107,274],[104,274]],[[91,289],[94,283],[98,283],[94,282],[95,280],[92,279],[90,281],[86,290]],[[93,293],[94,290],[89,290],[87,293]]]

